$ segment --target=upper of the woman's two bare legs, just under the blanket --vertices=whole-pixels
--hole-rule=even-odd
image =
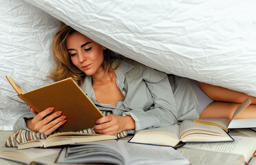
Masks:
[[[218,87],[201,82],[198,82],[198,85],[202,91],[209,96],[209,98],[215,101],[242,103],[246,98],[250,97],[252,104],[256,104],[256,97],[248,96],[239,91],[233,91],[224,87]]]

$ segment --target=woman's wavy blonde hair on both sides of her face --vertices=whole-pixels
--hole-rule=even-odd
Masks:
[[[56,81],[72,77],[80,86],[82,85],[86,75],[72,63],[66,47],[67,37],[72,35],[74,32],[77,31],[70,26],[65,25],[65,23],[62,23],[56,34],[54,34],[54,39],[52,41],[52,54],[54,56],[56,66],[47,77]],[[116,61],[116,57],[111,56],[108,49],[104,50],[103,55],[104,61],[102,66],[107,72],[113,72],[119,67],[120,62],[116,67],[112,68],[112,64]]]

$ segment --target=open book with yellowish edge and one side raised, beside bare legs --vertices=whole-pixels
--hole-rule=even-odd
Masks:
[[[250,98],[247,98],[242,102],[242,104],[237,107],[235,112],[232,115],[231,119],[228,118],[209,118],[209,119],[198,119],[198,120],[193,120],[193,122],[200,123],[200,124],[208,124],[208,125],[213,125],[213,126],[218,126],[221,129],[224,129],[225,131],[228,131],[228,126],[231,123],[231,121],[235,118],[235,116],[243,111],[248,105],[251,103]]]

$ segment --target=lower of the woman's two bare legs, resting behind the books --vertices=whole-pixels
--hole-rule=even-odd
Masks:
[[[230,102],[212,102],[200,114],[200,118],[228,118],[231,119],[235,109],[240,104]],[[250,104],[246,109],[240,112],[236,117],[239,118],[256,118],[256,104]]]

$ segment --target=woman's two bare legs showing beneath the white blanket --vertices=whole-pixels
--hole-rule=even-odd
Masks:
[[[198,82],[198,85],[209,98],[214,100],[214,102],[209,104],[209,106],[202,111],[200,118],[231,119],[235,109],[239,106],[239,103],[244,102],[248,97],[252,101],[252,104],[240,112],[236,118],[256,118],[256,97],[206,83]]]

